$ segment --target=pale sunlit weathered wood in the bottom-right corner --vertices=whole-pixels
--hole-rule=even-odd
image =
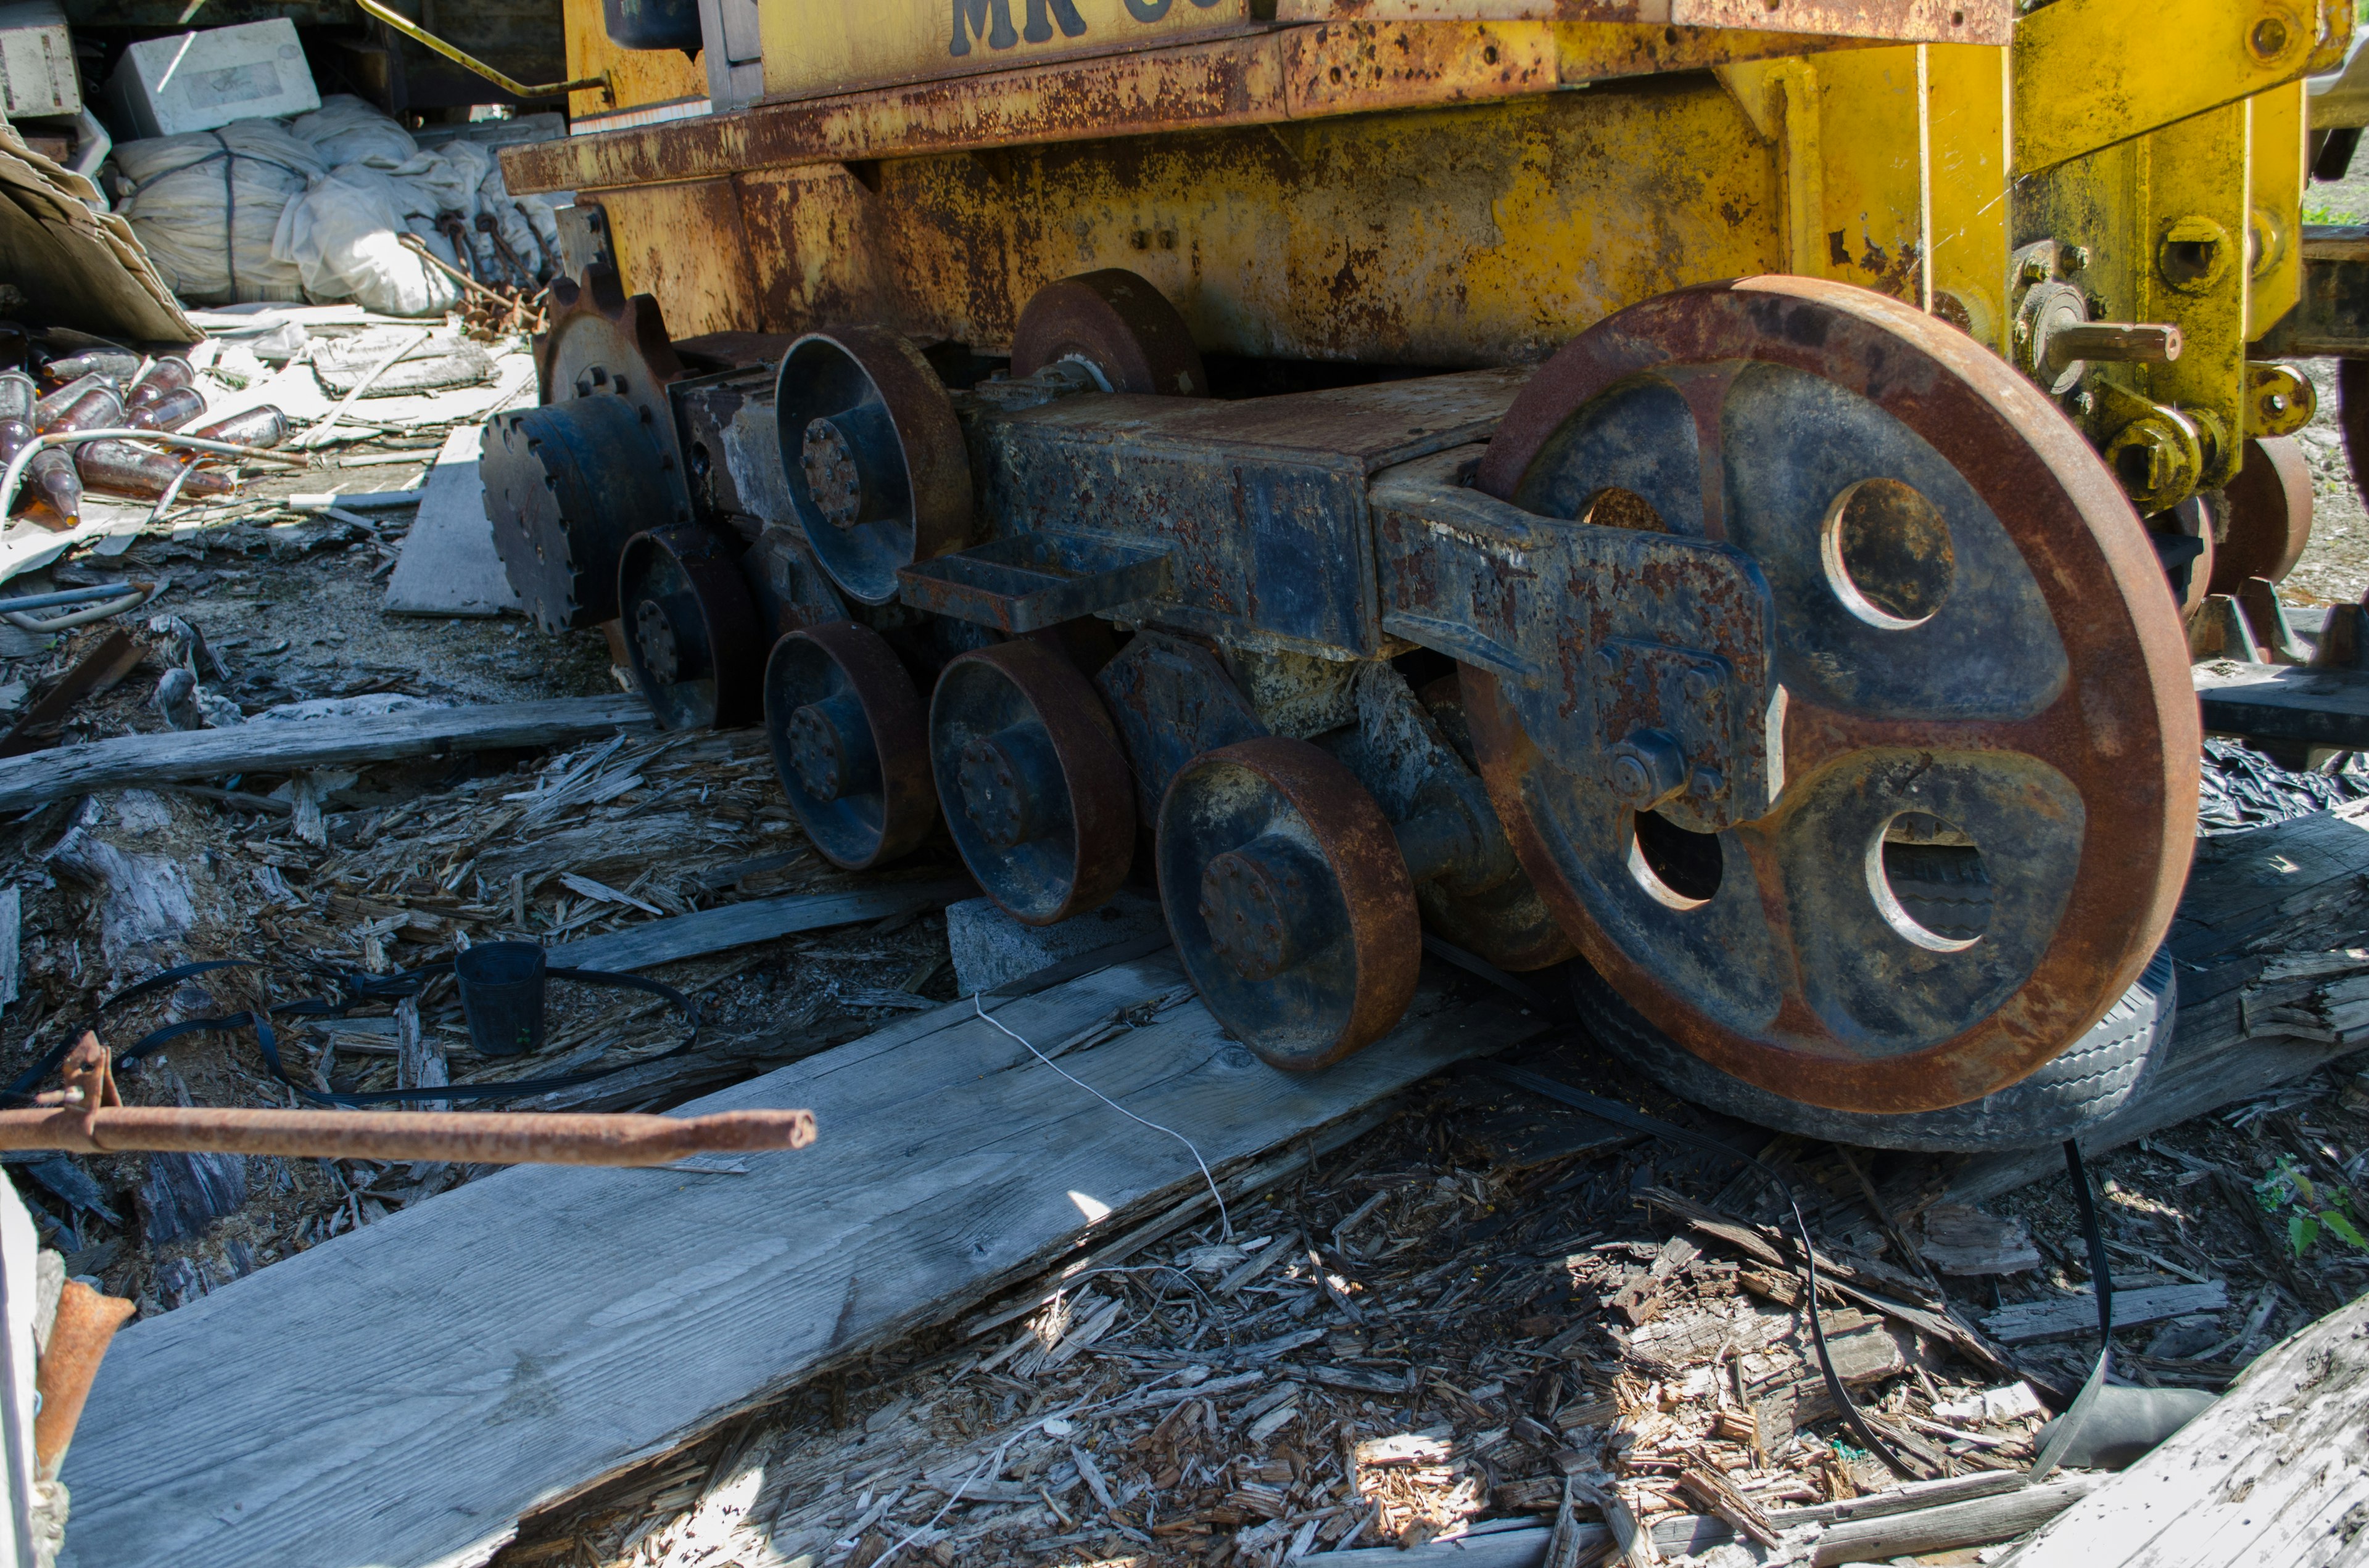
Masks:
[[[2357,1563],[2369,1296],[2267,1350],[2163,1447],[2049,1523],[2018,1568]]]

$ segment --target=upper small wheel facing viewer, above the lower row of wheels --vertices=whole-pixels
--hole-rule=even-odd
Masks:
[[[808,332],[775,386],[805,542],[853,599],[895,599],[895,568],[962,550],[971,460],[945,384],[886,327]]]

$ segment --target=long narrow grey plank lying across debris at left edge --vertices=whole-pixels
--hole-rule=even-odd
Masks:
[[[559,746],[611,730],[649,727],[649,703],[618,692],[486,708],[426,708],[303,722],[258,718],[230,730],[126,734],[111,741],[57,746],[0,760],[0,810],[24,810],[92,789],[218,779],[232,772],[389,763],[450,751]]]

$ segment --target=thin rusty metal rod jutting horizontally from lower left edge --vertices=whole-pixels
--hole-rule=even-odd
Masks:
[[[419,1090],[436,1099],[434,1087]],[[481,1165],[668,1165],[815,1142],[813,1111],[715,1116],[538,1116],[533,1111],[211,1111],[102,1106],[0,1111],[0,1149],[73,1153],[280,1153]]]

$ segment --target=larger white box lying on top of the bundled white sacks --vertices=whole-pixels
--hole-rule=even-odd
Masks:
[[[118,140],[320,109],[287,17],[135,43],[107,78],[107,99]]]

